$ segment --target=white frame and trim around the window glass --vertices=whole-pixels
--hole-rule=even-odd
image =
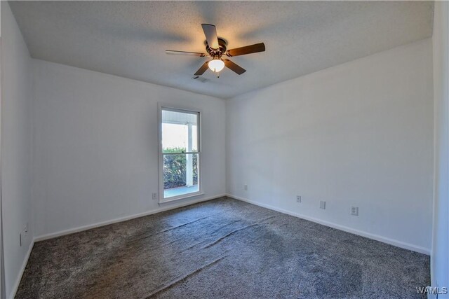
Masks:
[[[164,202],[173,202],[175,200],[184,200],[186,198],[190,197],[197,197],[199,195],[203,195],[203,181],[202,181],[202,163],[201,163],[201,110],[195,109],[192,107],[187,106],[179,106],[179,105],[173,105],[173,104],[158,104],[159,108],[159,203],[162,204]],[[187,193],[182,195],[177,195],[173,197],[164,198],[163,196],[163,148],[162,148],[162,111],[175,111],[175,112],[184,112],[184,113],[195,113],[198,115],[197,119],[197,125],[196,125],[196,136],[198,141],[198,151],[196,152],[189,152],[192,154],[198,154],[198,191],[194,193]],[[188,153],[182,153],[182,154],[188,154]]]

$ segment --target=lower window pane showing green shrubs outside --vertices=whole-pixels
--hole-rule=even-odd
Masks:
[[[197,153],[163,155],[163,198],[199,191]]]

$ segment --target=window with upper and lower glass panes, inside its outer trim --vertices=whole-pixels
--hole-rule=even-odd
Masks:
[[[199,112],[160,109],[161,202],[201,194]]]

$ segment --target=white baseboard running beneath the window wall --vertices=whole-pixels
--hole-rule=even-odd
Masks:
[[[93,223],[93,224],[89,224],[89,225],[83,225],[83,226],[79,226],[78,228],[70,228],[68,230],[60,230],[59,232],[51,232],[46,235],[40,235],[40,236],[35,237],[34,241],[38,242],[38,241],[43,241],[45,239],[52,239],[54,237],[60,237],[63,235],[70,235],[75,232],[82,232],[83,230],[90,230],[91,228],[99,228],[100,226],[105,226],[105,225],[109,225],[112,223],[118,223],[118,222],[127,221],[127,220],[134,219],[134,218],[148,216],[148,215],[160,213],[161,211],[168,211],[170,209],[186,207],[186,206],[189,206],[190,204],[196,204],[198,202],[206,202],[207,200],[214,200],[215,198],[220,198],[220,197],[224,197],[224,196],[226,196],[226,194],[214,195],[214,196],[204,197],[204,198],[200,198],[200,199],[196,199],[196,200],[187,200],[187,201],[183,201],[179,204],[170,205],[169,207],[159,207],[158,209],[154,209],[152,211],[146,211],[146,212],[140,213],[140,214],[133,214],[130,216],[115,218],[115,219],[108,220],[108,221],[102,221],[102,222]]]

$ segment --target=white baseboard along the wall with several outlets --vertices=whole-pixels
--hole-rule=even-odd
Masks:
[[[242,202],[248,202],[250,204],[255,204],[256,206],[259,206],[259,207],[264,207],[264,208],[267,208],[267,209],[272,209],[274,211],[279,211],[279,212],[281,212],[283,214],[288,214],[290,216],[295,216],[295,217],[298,217],[298,218],[302,218],[304,220],[308,220],[308,221],[312,221],[312,222],[319,223],[319,224],[322,224],[322,225],[326,225],[326,226],[328,226],[330,228],[336,228],[337,230],[343,230],[345,232],[351,232],[354,235],[367,237],[369,239],[375,239],[376,241],[387,243],[387,244],[390,244],[390,245],[393,245],[393,246],[396,246],[396,247],[401,247],[403,249],[408,249],[408,250],[411,250],[411,251],[424,253],[424,254],[427,254],[428,256],[430,255],[430,249],[427,249],[427,248],[424,248],[424,247],[421,247],[421,246],[416,246],[416,245],[409,244],[409,243],[406,243],[406,242],[397,241],[395,239],[389,239],[387,237],[382,237],[380,235],[375,235],[375,234],[372,234],[370,232],[364,232],[362,230],[356,230],[354,228],[348,228],[347,226],[339,225],[339,224],[336,224],[336,223],[331,223],[331,222],[328,222],[328,221],[323,221],[323,220],[318,219],[318,218],[304,216],[304,215],[296,213],[296,212],[287,211],[285,209],[280,209],[280,208],[277,208],[277,207],[273,207],[273,206],[271,206],[269,204],[261,204],[260,202],[255,202],[253,200],[248,200],[247,198],[239,197],[239,196],[236,196],[236,195],[227,194],[227,197],[234,198],[235,200],[241,200]]]

